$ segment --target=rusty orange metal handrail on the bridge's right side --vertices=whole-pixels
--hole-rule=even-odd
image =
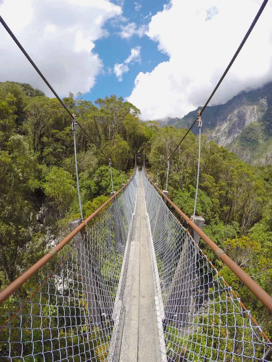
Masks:
[[[146,170],[144,168],[144,172],[146,176]],[[272,313],[272,298],[271,296],[263,290],[262,287],[259,286],[252,278],[245,271],[243,271],[222,249],[218,247],[199,227],[196,226],[192,222],[187,215],[184,214],[175,204],[173,201],[167,197],[162,190],[160,190],[153,181],[151,181],[150,177],[148,176],[148,180],[151,184],[156,188],[165,198],[170,205],[178,212],[180,216],[187,222],[187,224],[194,229],[197,234],[205,241],[205,243],[216,253],[216,255],[230,268],[231,271],[248,287],[248,289],[263,303],[263,305],[268,309],[270,313]]]

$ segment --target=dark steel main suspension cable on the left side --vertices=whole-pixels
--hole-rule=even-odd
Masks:
[[[74,120],[75,116],[71,113],[71,111],[69,111],[69,109],[67,108],[67,106],[65,106],[63,100],[61,100],[61,98],[58,96],[58,94],[55,92],[55,90],[53,89],[53,87],[50,85],[50,83],[47,81],[47,79],[44,77],[44,75],[42,74],[42,72],[39,70],[39,68],[36,66],[36,64],[33,62],[33,60],[30,58],[30,56],[27,54],[27,52],[25,51],[25,49],[22,47],[21,43],[18,41],[18,39],[16,38],[16,36],[12,33],[12,31],[10,30],[10,28],[8,27],[7,23],[4,21],[4,19],[1,17],[0,15],[0,22],[1,24],[4,26],[4,28],[7,30],[7,32],[9,33],[9,35],[12,37],[12,39],[14,40],[14,42],[17,44],[17,46],[20,48],[20,50],[22,51],[22,53],[25,55],[26,59],[30,62],[30,64],[33,66],[33,68],[35,69],[35,71],[39,74],[39,76],[42,78],[42,80],[44,81],[44,83],[47,85],[47,87],[51,90],[51,92],[55,95],[55,97],[59,100],[59,102],[61,103],[61,105],[63,106],[63,108],[68,112],[68,114],[71,116],[71,118]],[[86,136],[88,136],[90,138],[90,140],[94,143],[94,145],[98,148],[98,150],[106,157],[107,160],[110,161],[110,158],[101,150],[101,148],[98,146],[98,144],[94,141],[94,139],[92,138],[92,136],[90,136],[88,134],[88,132],[85,131],[85,129],[80,125],[80,123],[78,123],[77,121],[77,125],[78,127],[86,134]],[[116,165],[111,162],[111,164],[119,170],[118,167],[116,167]]]

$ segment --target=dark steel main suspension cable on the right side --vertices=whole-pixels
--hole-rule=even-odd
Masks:
[[[212,99],[212,97],[214,96],[214,93],[216,92],[216,90],[218,89],[218,87],[220,86],[220,84],[222,83],[223,79],[225,78],[226,74],[228,73],[230,67],[232,66],[232,64],[234,63],[234,60],[237,58],[237,55],[239,54],[239,52],[241,51],[243,45],[245,44],[247,38],[249,37],[252,29],[254,28],[254,26],[256,25],[256,22],[258,21],[260,15],[262,14],[265,5],[268,3],[268,0],[264,0],[258,13],[256,14],[254,20],[252,21],[249,29],[247,30],[247,33],[245,35],[245,37],[243,38],[241,44],[239,45],[238,49],[236,50],[235,54],[233,55],[229,65],[226,67],[225,72],[222,74],[221,78],[219,79],[218,83],[216,84],[215,88],[213,89],[211,95],[209,96],[207,102],[204,104],[204,106],[202,107],[202,109],[199,111],[199,115],[201,116],[201,114],[203,113],[203,111],[205,110],[205,108],[207,107],[207,105],[209,104],[210,100]],[[195,121],[192,123],[192,125],[190,126],[190,128],[186,131],[185,135],[182,137],[182,139],[180,140],[178,146],[174,149],[174,151],[171,153],[171,155],[168,157],[167,160],[169,160],[174,153],[177,151],[177,149],[179,148],[180,144],[183,142],[184,138],[187,136],[187,134],[191,131],[192,127],[195,125],[195,123],[197,122],[198,116],[196,117]],[[158,169],[158,172],[162,169],[162,167],[166,164],[167,161],[165,161],[165,163],[163,163],[161,165],[161,167]]]

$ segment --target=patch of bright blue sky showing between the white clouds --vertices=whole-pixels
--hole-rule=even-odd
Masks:
[[[115,3],[118,4],[118,1],[115,1]],[[137,27],[147,26],[152,15],[162,11],[163,5],[168,3],[169,0],[126,0],[122,7],[122,15],[127,19],[127,22],[123,24],[134,22]],[[151,72],[159,63],[169,60],[169,56],[157,49],[158,42],[151,40],[146,35],[139,37],[135,34],[129,39],[121,38],[118,34],[120,31],[118,25],[115,20],[107,21],[104,28],[109,31],[109,35],[95,42],[93,51],[97,52],[99,58],[102,59],[105,73],[98,75],[92,90],[84,94],[83,97],[86,100],[95,101],[99,97],[104,98],[111,94],[115,94],[117,97],[128,97],[132,92],[135,78],[139,72]],[[141,62],[129,65],[129,71],[123,74],[123,80],[118,81],[113,72],[109,74],[108,68],[113,69],[114,64],[124,62],[131,49],[137,46],[141,47]]]

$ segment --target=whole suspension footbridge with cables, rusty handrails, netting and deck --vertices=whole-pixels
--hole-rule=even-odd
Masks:
[[[166,180],[169,160],[196,122],[200,159],[201,114],[267,2],[194,123],[158,169],[167,163]],[[76,174],[77,125],[109,160],[111,172],[109,157],[76,122],[1,16],[0,21],[72,118]],[[197,186],[198,178],[199,164]],[[116,192],[112,183],[109,200],[86,220],[78,174],[77,186],[81,219],[69,222],[71,233],[0,291],[0,303],[7,306],[0,361],[271,361],[271,341],[200,249],[200,238],[270,313],[271,296],[205,235],[204,219],[195,210],[188,218],[168,198],[167,181],[163,191],[154,184],[144,159],[138,168],[135,156],[131,178]],[[195,205],[196,199],[197,187]]]

